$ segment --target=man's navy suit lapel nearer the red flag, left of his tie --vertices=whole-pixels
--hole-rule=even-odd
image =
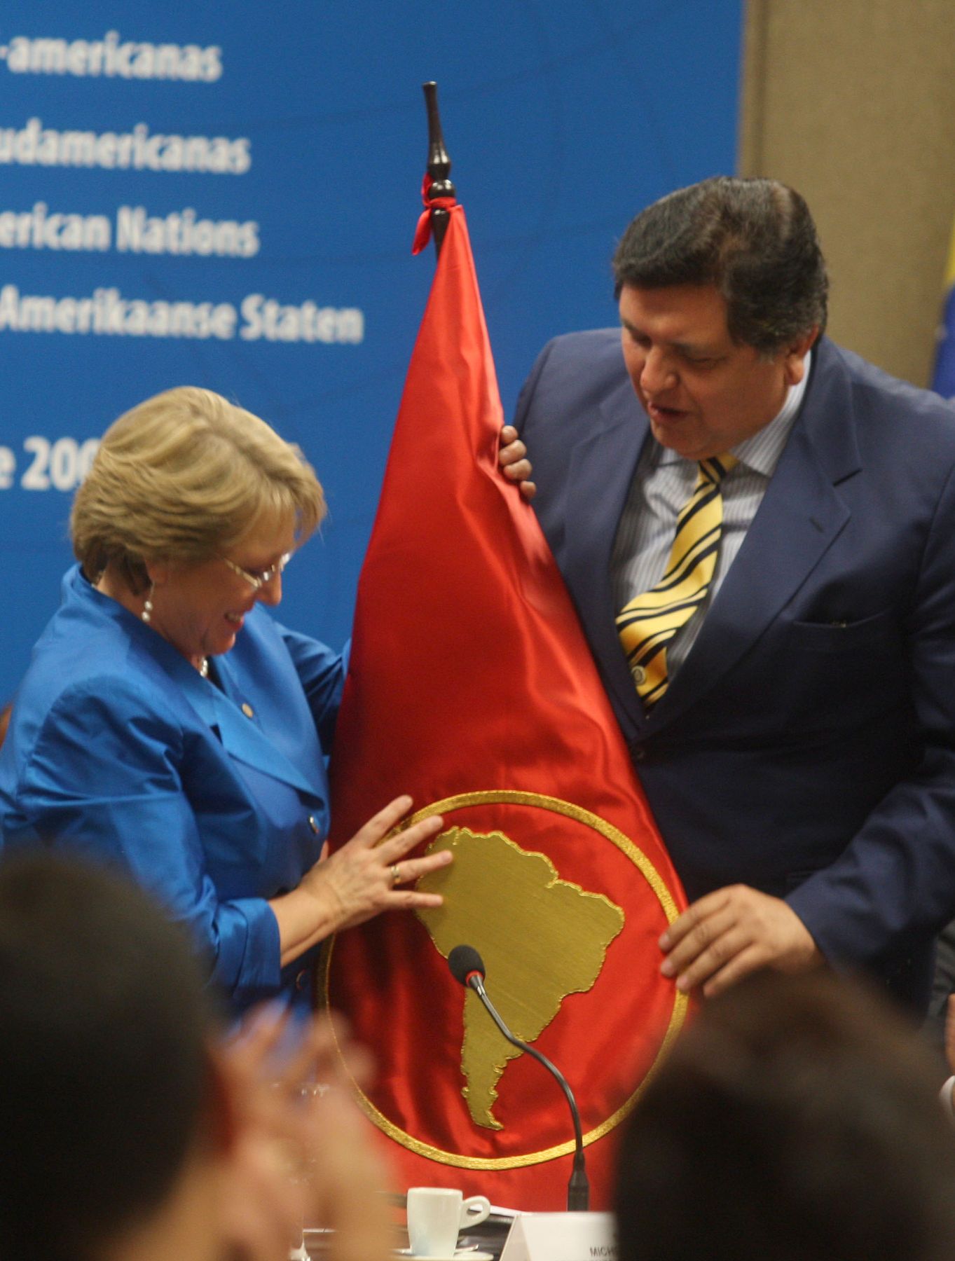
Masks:
[[[604,685],[618,712],[623,711],[635,728],[643,724],[645,715],[617,638],[611,554],[648,429],[624,377],[595,409],[592,431],[570,453],[566,530],[559,557]]]

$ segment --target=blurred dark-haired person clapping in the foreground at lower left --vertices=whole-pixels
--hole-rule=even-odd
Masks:
[[[367,1055],[276,1005],[222,1038],[206,992],[138,886],[0,863],[0,1261],[286,1261],[305,1218],[387,1261]]]

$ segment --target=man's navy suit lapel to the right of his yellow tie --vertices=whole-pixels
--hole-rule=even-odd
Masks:
[[[859,467],[850,398],[824,343],[810,393],[690,654],[648,720],[662,728],[756,643],[849,520],[835,484]]]

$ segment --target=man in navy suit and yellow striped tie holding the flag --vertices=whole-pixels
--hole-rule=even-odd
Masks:
[[[662,970],[714,994],[826,960],[923,1008],[955,913],[955,414],[823,337],[782,184],[664,198],[614,274],[621,329],[551,342],[516,425],[691,899]]]

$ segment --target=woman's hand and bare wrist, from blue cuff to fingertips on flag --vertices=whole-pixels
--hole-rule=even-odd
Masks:
[[[440,894],[400,888],[452,860],[448,850],[405,857],[443,827],[442,818],[433,816],[389,836],[410,808],[410,797],[396,797],[331,857],[319,859],[296,889],[270,899],[279,923],[283,967],[323,937],[365,923],[382,910],[440,907]]]

